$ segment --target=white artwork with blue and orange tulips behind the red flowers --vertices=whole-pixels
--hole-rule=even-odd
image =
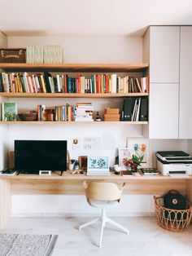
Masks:
[[[133,152],[133,155],[137,157],[143,156],[140,167],[151,167],[149,139],[127,138],[127,146]]]

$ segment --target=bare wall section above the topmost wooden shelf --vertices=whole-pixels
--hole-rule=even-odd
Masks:
[[[142,62],[142,37],[9,37],[9,47],[59,44],[65,63]]]

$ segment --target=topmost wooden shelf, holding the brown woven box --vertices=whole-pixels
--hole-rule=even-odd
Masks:
[[[5,71],[127,72],[143,71],[149,64],[25,64],[0,63]]]

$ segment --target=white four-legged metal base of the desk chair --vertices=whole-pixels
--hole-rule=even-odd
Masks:
[[[101,228],[101,235],[100,235],[100,241],[99,241],[99,247],[102,247],[102,238],[103,238],[103,228],[106,226],[106,223],[111,223],[113,226],[118,227],[120,230],[122,230],[123,232],[125,232],[126,234],[129,235],[129,230],[123,226],[121,226],[119,223],[116,223],[114,220],[112,220],[111,218],[108,218],[106,216],[105,210],[102,210],[102,216],[100,218],[95,218],[91,221],[89,221],[88,223],[85,223],[83,225],[81,225],[79,227],[79,230],[81,230],[84,227],[88,227],[96,222],[98,222],[98,220],[102,221],[102,228]]]

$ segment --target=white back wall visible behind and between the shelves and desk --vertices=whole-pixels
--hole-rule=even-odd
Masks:
[[[139,63],[142,62],[142,38],[127,37],[9,37],[8,46],[27,46],[33,44],[60,44],[63,46],[63,61],[66,63]],[[84,101],[85,99],[77,99]],[[18,103],[19,111],[37,108],[37,104],[49,106],[75,103],[76,99],[9,99]],[[91,99],[95,110],[102,111],[107,106],[118,106],[120,99]],[[78,129],[77,129],[78,127]],[[94,136],[103,139],[103,149],[89,154],[106,154],[114,163],[118,148],[126,145],[127,137],[141,137],[141,126],[126,125],[53,125],[53,126],[10,126],[9,146],[13,149],[14,139],[68,139],[71,157],[87,155],[82,150],[72,150],[72,139]],[[182,149],[187,151],[187,142],[151,141],[151,154],[156,150]],[[124,195],[119,208],[113,214],[149,214],[153,210],[152,196]],[[30,214],[94,214],[85,201],[85,196],[12,196],[13,215]]]

